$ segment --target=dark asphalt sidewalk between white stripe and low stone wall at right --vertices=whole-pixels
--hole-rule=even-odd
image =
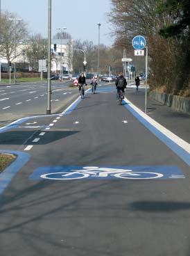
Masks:
[[[144,88],[139,88],[138,95],[135,88],[127,88],[126,97],[135,106],[144,111]],[[160,125],[190,143],[190,115],[173,111],[169,106],[164,106],[150,97],[147,97],[147,114],[159,122]]]

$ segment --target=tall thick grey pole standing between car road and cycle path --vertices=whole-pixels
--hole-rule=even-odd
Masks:
[[[48,15],[48,74],[47,74],[46,114],[51,115],[51,0],[49,0],[49,15]]]

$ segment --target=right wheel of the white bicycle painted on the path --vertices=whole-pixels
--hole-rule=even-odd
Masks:
[[[150,172],[131,172],[131,173],[116,173],[114,177],[121,179],[157,179],[164,175],[162,173],[150,173]]]

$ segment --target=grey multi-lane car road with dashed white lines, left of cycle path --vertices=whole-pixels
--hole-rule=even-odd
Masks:
[[[51,113],[62,109],[69,98],[78,94],[69,88],[71,82],[53,82],[51,86]],[[0,125],[6,125],[18,118],[28,115],[46,113],[47,83],[21,83],[11,86],[0,86]]]

